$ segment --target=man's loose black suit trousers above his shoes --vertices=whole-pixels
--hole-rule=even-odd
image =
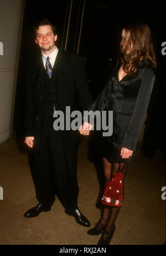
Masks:
[[[66,159],[61,131],[44,126],[38,149],[28,151],[28,160],[39,203],[53,205],[58,196],[65,209],[77,208],[79,186],[77,183],[77,150]]]

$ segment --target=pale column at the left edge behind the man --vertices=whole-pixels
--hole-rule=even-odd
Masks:
[[[22,0],[0,0],[0,143],[10,132],[15,58]]]

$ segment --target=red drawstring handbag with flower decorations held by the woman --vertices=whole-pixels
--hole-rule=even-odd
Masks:
[[[105,191],[103,193],[101,202],[109,206],[121,206],[123,200],[123,174],[122,171],[125,168],[123,164],[122,169],[121,164],[118,166],[117,172],[113,175],[113,179],[109,181],[106,185]]]

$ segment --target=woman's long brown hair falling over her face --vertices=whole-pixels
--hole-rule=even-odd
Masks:
[[[123,70],[132,75],[137,71],[139,62],[146,59],[153,67],[157,66],[151,31],[146,23],[133,23],[124,27],[125,33],[120,42],[118,61]]]

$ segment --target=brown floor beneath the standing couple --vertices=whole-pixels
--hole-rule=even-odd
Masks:
[[[125,178],[125,199],[116,220],[111,245],[162,245],[165,242],[166,159],[156,151],[150,161],[140,154],[129,165]],[[91,227],[100,218],[96,208],[98,180],[94,164],[87,159],[87,139],[81,142],[78,159],[79,208]],[[17,149],[15,136],[0,145],[0,244],[96,245],[100,235],[88,235],[87,228],[66,215],[57,199],[48,213],[26,219],[23,214],[37,205],[27,155]]]

